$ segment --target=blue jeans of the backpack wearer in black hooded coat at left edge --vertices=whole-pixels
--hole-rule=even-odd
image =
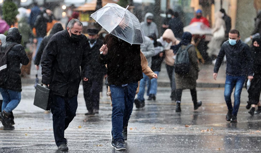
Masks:
[[[0,88],[0,92],[3,97],[1,111],[11,113],[11,111],[14,110],[21,101],[21,92],[4,88]]]

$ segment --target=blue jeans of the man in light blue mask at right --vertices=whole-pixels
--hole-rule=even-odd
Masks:
[[[226,82],[225,82],[225,101],[228,107],[229,111],[232,111],[232,115],[237,115],[237,112],[239,110],[239,105],[240,105],[240,95],[241,91],[243,88],[243,85],[245,83],[246,76],[241,75],[241,76],[231,76],[227,75],[226,76]],[[231,102],[231,94],[233,91],[233,88],[235,87],[235,93],[234,93],[234,108],[232,107],[232,102]]]

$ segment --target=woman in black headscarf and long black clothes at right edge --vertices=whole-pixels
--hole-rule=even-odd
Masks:
[[[255,114],[256,106],[258,110],[256,114],[261,112],[261,105],[259,102],[260,92],[261,92],[261,39],[253,38],[252,46],[250,47],[253,63],[254,63],[254,78],[251,81],[250,87],[248,89],[249,104],[251,104],[251,109],[248,112],[250,115]]]

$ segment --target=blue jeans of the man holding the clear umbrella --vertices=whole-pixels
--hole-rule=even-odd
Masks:
[[[112,134],[116,141],[123,140],[122,130],[131,117],[134,98],[138,83],[129,83],[127,86],[110,85],[112,98]]]

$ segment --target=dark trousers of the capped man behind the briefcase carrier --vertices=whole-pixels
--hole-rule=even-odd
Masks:
[[[83,96],[88,111],[99,110],[101,80],[83,81]]]

